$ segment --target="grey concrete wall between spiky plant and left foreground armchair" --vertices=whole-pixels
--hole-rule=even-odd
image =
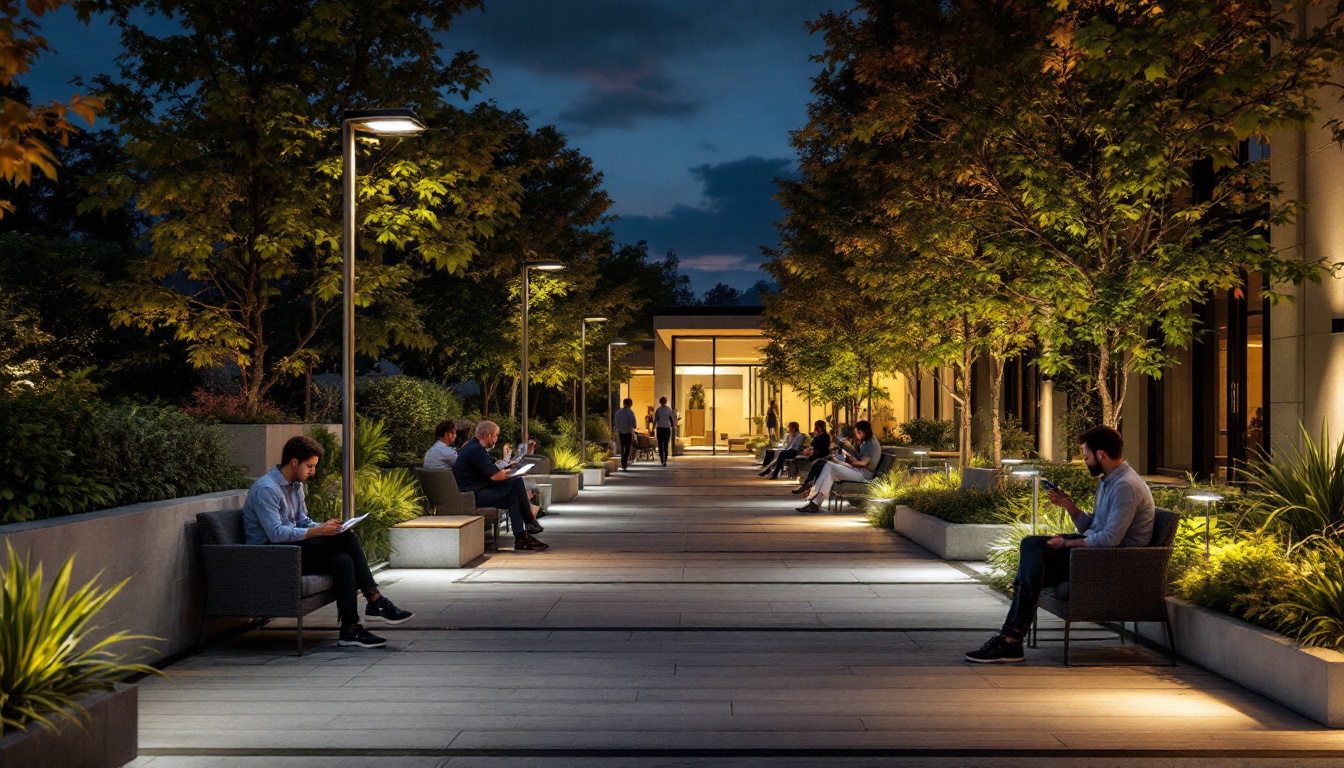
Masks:
[[[11,523],[0,526],[0,539],[13,545],[20,555],[30,554],[34,564],[40,561],[46,573],[54,573],[74,554],[74,584],[89,581],[99,570],[105,586],[130,577],[97,621],[103,629],[94,636],[124,631],[164,638],[142,643],[152,646],[152,652],[138,651],[141,643],[126,643],[122,648],[136,660],[155,662],[196,646],[206,603],[196,512],[238,510],[246,496],[246,491],[222,491]],[[219,631],[241,621],[212,619],[206,629]]]

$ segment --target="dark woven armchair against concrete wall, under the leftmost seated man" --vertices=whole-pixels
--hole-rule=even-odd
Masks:
[[[304,576],[297,546],[243,543],[243,511],[223,510],[196,515],[200,554],[206,566],[206,611],[196,647],[204,639],[206,619],[294,619],[298,655],[304,655],[304,615],[336,600],[329,576]]]

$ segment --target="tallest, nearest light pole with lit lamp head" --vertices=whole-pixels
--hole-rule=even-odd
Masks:
[[[425,124],[411,109],[352,109],[341,114],[344,226],[341,229],[341,483],[340,516],[355,516],[355,132],[415,136]]]

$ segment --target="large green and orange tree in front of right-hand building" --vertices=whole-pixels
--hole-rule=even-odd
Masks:
[[[868,0],[816,28],[829,69],[866,91],[847,105],[852,136],[922,145],[926,169],[961,182],[1005,246],[997,270],[1044,319],[1043,367],[1068,370],[1070,343],[1094,347],[1116,425],[1120,374],[1160,375],[1165,348],[1195,332],[1191,303],[1246,272],[1318,278],[1270,247],[1296,204],[1267,161],[1241,160],[1313,114],[1339,5],[1320,17],[1298,31],[1271,0]]]

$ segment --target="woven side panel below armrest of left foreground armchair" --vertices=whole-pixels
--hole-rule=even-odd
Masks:
[[[206,613],[294,615],[302,600],[302,553],[286,545],[202,545]]]

